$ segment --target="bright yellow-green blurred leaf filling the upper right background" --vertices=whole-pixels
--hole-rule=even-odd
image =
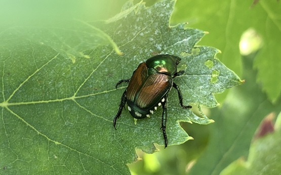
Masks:
[[[171,21],[188,22],[188,27],[210,32],[199,44],[220,49],[220,61],[238,76],[242,75],[239,40],[244,31],[254,28],[263,39],[263,48],[254,63],[258,68],[257,80],[262,82],[270,101],[276,102],[281,93],[281,5],[261,0],[250,9],[252,3],[243,0],[178,1]],[[226,94],[218,97],[222,102]]]

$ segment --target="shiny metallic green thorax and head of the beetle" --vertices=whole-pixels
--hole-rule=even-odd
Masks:
[[[151,57],[145,63],[148,68],[153,68],[158,73],[174,75],[180,60],[178,56],[162,54]]]

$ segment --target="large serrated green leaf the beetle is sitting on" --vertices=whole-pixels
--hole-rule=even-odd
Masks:
[[[184,104],[217,106],[214,93],[243,83],[216,59],[217,49],[194,47],[205,32],[169,25],[174,3],[140,4],[131,13],[124,8],[107,24],[75,18],[0,28],[0,173],[130,174],[126,163],[138,159],[136,148],[152,153],[154,144],[164,144],[162,111],[135,124],[124,110],[114,130],[112,120],[126,88],[115,89],[115,84],[155,53],[182,58],[185,74],[175,82]],[[180,121],[213,122],[203,112],[199,117],[182,109],[177,96],[173,89],[169,145],[192,139]]]

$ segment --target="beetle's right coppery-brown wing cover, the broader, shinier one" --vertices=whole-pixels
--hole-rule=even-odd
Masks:
[[[164,98],[171,89],[173,78],[165,74],[151,74],[147,77],[142,88],[137,94],[135,103],[141,109],[149,109]]]

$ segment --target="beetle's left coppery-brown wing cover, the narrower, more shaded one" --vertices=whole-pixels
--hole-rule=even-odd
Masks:
[[[138,66],[127,88],[127,100],[134,101],[139,89],[148,76],[147,70],[148,68],[145,63],[141,63]]]

